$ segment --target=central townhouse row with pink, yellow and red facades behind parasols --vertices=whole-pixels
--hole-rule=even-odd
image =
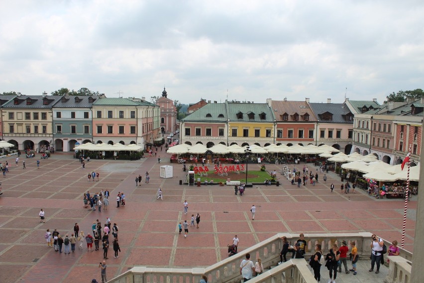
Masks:
[[[205,102],[203,100],[203,102]],[[357,105],[361,105],[358,108]],[[180,121],[180,141],[222,143],[241,146],[257,144],[328,144],[350,153],[354,116],[362,108],[379,106],[375,101],[310,103],[267,99],[266,103],[206,103]]]

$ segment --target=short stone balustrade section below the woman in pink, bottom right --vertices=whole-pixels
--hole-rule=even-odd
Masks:
[[[411,282],[411,261],[400,256],[388,256],[389,275],[384,278],[385,283]]]

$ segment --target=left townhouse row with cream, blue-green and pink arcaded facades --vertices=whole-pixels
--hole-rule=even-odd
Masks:
[[[0,96],[1,139],[23,149],[71,151],[75,144],[162,139],[160,107],[143,99],[101,96]]]

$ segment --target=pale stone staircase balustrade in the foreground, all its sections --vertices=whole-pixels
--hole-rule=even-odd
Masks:
[[[354,241],[360,256],[359,260],[369,258],[371,253],[371,233],[345,233],[345,234],[305,234],[307,241],[305,259],[309,259],[314,253],[316,244],[321,244],[324,255],[329,252],[331,245],[336,243],[340,246],[342,240],[345,240],[348,245]],[[294,234],[276,234],[265,241],[260,242],[238,254],[226,258],[212,266],[206,268],[149,268],[149,267],[134,267],[131,270],[112,279],[111,283],[198,283],[202,275],[208,277],[208,282],[212,283],[235,283],[240,282],[240,262],[245,259],[245,255],[249,253],[251,260],[256,261],[261,258],[264,269],[269,269],[264,274],[250,280],[249,282],[269,282],[269,283],[314,283],[314,276],[311,274],[308,263],[305,260],[290,260],[286,263],[277,266],[280,261],[280,251],[283,243],[281,237],[286,236],[293,245],[299,235]],[[387,241],[386,245],[387,245]],[[387,245],[388,246],[388,245]],[[389,246],[388,246],[389,247]],[[291,254],[288,254],[291,258]],[[390,257],[392,258],[392,257]],[[393,272],[390,273],[393,281],[387,283],[407,283],[409,281],[394,281],[399,276],[410,277],[411,266],[408,264],[408,259],[412,259],[412,253],[405,250],[401,256],[390,262]],[[402,259],[402,260],[401,260]],[[408,266],[409,265],[409,271]]]

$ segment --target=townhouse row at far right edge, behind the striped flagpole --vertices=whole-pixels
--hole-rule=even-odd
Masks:
[[[424,98],[389,102],[355,115],[353,151],[374,154],[389,164],[400,164],[411,146],[411,159],[421,154]]]

